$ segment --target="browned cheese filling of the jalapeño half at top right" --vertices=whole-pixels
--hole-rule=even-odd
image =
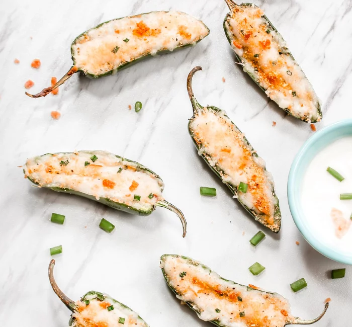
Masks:
[[[238,6],[227,18],[226,28],[243,70],[254,76],[269,98],[294,116],[320,121],[318,98],[303,70],[289,53],[287,44],[267,25],[261,9]],[[281,54],[280,54],[281,53]]]

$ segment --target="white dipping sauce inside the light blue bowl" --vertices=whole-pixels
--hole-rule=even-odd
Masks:
[[[339,182],[331,176],[327,167],[340,173],[344,180]],[[338,139],[323,148],[309,163],[301,187],[307,227],[314,230],[315,237],[329,248],[351,255],[352,200],[340,200],[341,193],[352,193],[352,136]],[[337,225],[343,232],[336,229]]]

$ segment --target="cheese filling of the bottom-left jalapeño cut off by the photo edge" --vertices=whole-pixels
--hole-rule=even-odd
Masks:
[[[74,326],[77,327],[148,327],[138,313],[114,301],[110,297],[105,297],[104,301],[94,299],[94,295],[87,295],[84,299],[90,300],[86,305],[77,301],[77,312],[72,316],[75,318]],[[113,305],[113,310],[108,310]],[[120,319],[122,318],[122,319]],[[124,320],[124,323],[121,323]],[[120,320],[120,323],[119,323]]]

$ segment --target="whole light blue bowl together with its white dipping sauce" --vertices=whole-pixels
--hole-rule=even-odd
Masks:
[[[303,144],[287,185],[290,211],[304,238],[325,257],[348,265],[352,265],[351,159],[352,119],[347,119],[317,131]]]

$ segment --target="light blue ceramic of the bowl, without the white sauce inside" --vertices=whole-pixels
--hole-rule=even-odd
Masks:
[[[293,220],[308,243],[325,257],[352,265],[352,254],[342,254],[326,246],[324,240],[318,238],[314,230],[307,225],[300,197],[303,176],[310,161],[325,146],[344,136],[352,136],[352,119],[346,119],[321,129],[303,144],[290,169],[287,197]]]

